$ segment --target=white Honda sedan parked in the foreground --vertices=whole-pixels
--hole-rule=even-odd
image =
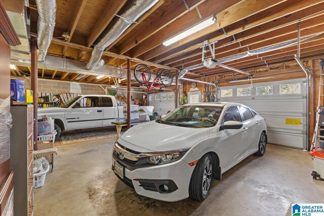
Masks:
[[[112,152],[115,175],[143,196],[178,201],[208,196],[212,179],[267,144],[265,120],[236,103],[199,103],[176,108],[121,136]]]

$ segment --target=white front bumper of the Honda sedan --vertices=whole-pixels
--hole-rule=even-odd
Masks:
[[[189,196],[189,183],[195,166],[190,166],[182,159],[134,170],[127,169],[124,161],[116,157],[113,157],[112,166],[114,161],[124,167],[124,179],[116,176],[139,195],[167,202],[179,201]],[[168,186],[169,191],[164,190],[164,185]]]

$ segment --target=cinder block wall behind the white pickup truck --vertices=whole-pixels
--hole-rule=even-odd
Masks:
[[[17,79],[25,80],[25,89],[31,89],[30,78],[19,78]],[[103,88],[106,88],[108,85],[101,84]],[[86,83],[76,83],[76,82],[58,82],[51,80],[38,79],[38,92],[42,93],[79,93],[83,95],[105,95],[105,91],[100,88],[98,85],[91,85]],[[120,90],[117,93],[117,96],[127,95],[126,90]],[[141,94],[132,93],[134,98],[140,98]]]

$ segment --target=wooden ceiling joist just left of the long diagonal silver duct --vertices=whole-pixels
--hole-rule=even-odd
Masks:
[[[92,28],[87,38],[88,47],[90,47],[95,42],[95,40],[99,37],[103,30],[105,30],[115,14],[118,13],[118,11],[121,9],[121,7],[124,6],[126,2],[127,0],[108,1],[106,9],[102,12],[101,16],[97,20],[95,26]]]

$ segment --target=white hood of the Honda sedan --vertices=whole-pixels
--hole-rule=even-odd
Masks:
[[[209,128],[181,127],[150,121],[131,127],[120,139],[131,144],[126,148],[132,149],[135,145],[155,152],[191,148],[209,136]],[[127,145],[126,142],[122,145]]]

